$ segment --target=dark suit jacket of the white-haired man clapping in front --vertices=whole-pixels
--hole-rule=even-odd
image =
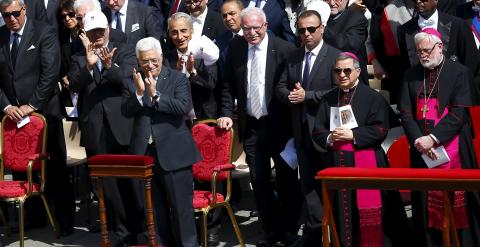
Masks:
[[[125,115],[135,118],[129,152],[144,155],[152,136],[158,161],[165,171],[185,168],[201,160],[185,122],[185,116],[192,109],[190,83],[185,75],[162,67],[157,79],[161,96],[153,104],[145,93],[142,106],[134,90],[132,84],[124,86],[122,104]]]

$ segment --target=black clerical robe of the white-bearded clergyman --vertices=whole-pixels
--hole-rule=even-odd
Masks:
[[[456,155],[450,155],[448,166],[432,169],[478,168],[467,109],[472,105],[471,81],[470,70],[450,59],[444,60],[433,70],[424,69],[421,65],[407,70],[398,107],[411,146],[413,168],[427,168],[413,143],[417,138],[429,134],[434,135],[445,148],[456,142],[458,149]],[[432,101],[437,103],[428,104]],[[425,103],[428,107],[423,110]],[[436,120],[429,116],[434,116]],[[450,165],[455,159],[459,161],[458,167]],[[462,246],[480,246],[478,193],[455,192],[454,196],[454,214]],[[435,226],[431,198],[431,192],[412,192],[413,241],[418,246],[443,246],[441,230],[438,229],[441,224]]]

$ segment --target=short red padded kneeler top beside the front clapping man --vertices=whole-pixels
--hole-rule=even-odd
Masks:
[[[145,166],[153,164],[153,158],[144,155],[99,154],[88,159],[88,165]]]

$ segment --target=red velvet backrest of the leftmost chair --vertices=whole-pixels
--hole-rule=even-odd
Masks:
[[[4,168],[26,172],[29,158],[45,153],[47,124],[40,114],[30,115],[30,123],[17,128],[17,123],[4,117],[2,120],[2,163]],[[36,161],[33,170],[39,170],[44,161]]]

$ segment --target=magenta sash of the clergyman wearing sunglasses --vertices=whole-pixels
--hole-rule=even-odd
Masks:
[[[373,148],[356,150],[352,142],[335,142],[335,150],[354,152],[355,167],[377,168]],[[382,247],[382,199],[379,190],[357,191],[357,207],[360,216],[360,247]]]

